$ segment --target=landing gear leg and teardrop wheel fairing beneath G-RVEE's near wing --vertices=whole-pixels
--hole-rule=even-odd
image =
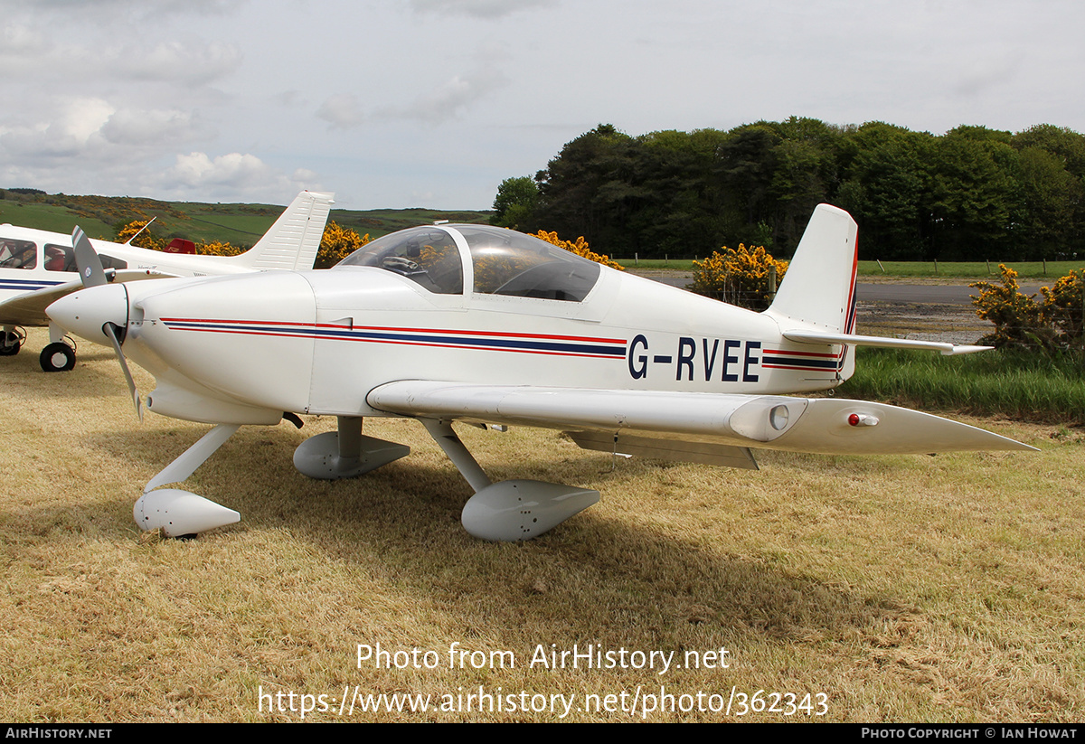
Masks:
[[[434,441],[475,495],[463,506],[463,528],[483,540],[519,542],[557,527],[599,501],[599,491],[540,480],[490,483],[447,421],[422,419]]]

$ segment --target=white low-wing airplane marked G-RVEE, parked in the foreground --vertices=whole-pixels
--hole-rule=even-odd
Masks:
[[[240,519],[159,486],[186,479],[242,424],[299,425],[296,414],[308,413],[337,416],[339,431],[297,448],[305,475],[354,477],[408,454],[363,436],[361,425],[366,416],[414,418],[475,491],[464,527],[523,540],[593,504],[598,491],[492,484],[451,422],[559,428],[588,449],[750,469],[752,448],[1032,449],[893,406],[782,395],[839,385],[856,345],[981,348],[853,334],[855,269],[855,222],[828,205],[814,213],[762,313],[511,230],[438,225],[385,235],[327,271],[124,285],[90,278],[103,285],[48,312],[113,345],[123,365],[127,356],[150,371],[150,410],[217,424],[146,485],[135,508],[144,529],[182,536]],[[129,386],[138,409],[130,375]]]

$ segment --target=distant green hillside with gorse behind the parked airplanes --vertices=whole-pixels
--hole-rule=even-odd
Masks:
[[[25,193],[29,192],[29,193]],[[31,190],[0,190],[0,223],[71,233],[78,225],[92,238],[112,239],[116,227],[156,217],[155,232],[195,242],[226,241],[252,245],[267,232],[283,206],[273,204],[209,204],[159,202],[131,196],[73,196]],[[331,219],[371,238],[416,225],[447,219],[486,222],[487,211],[439,209],[332,209]]]

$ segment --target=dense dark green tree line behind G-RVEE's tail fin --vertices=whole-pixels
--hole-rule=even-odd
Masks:
[[[620,257],[738,243],[789,256],[822,202],[858,222],[865,259],[1085,256],[1085,137],[1048,124],[934,136],[799,117],[634,137],[603,124],[534,177],[506,179],[492,221],[583,235]]]

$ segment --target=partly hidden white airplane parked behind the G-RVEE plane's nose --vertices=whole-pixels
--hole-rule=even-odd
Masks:
[[[94,245],[102,267],[110,270],[107,281],[311,269],[332,196],[303,191],[256,245],[240,256],[170,254],[106,241],[94,241]],[[69,235],[0,225],[0,356],[18,354],[26,338],[20,326],[50,325],[41,369],[61,372],[75,367],[75,349],[46,316],[51,303],[82,288],[78,275],[71,273],[75,271]]]

